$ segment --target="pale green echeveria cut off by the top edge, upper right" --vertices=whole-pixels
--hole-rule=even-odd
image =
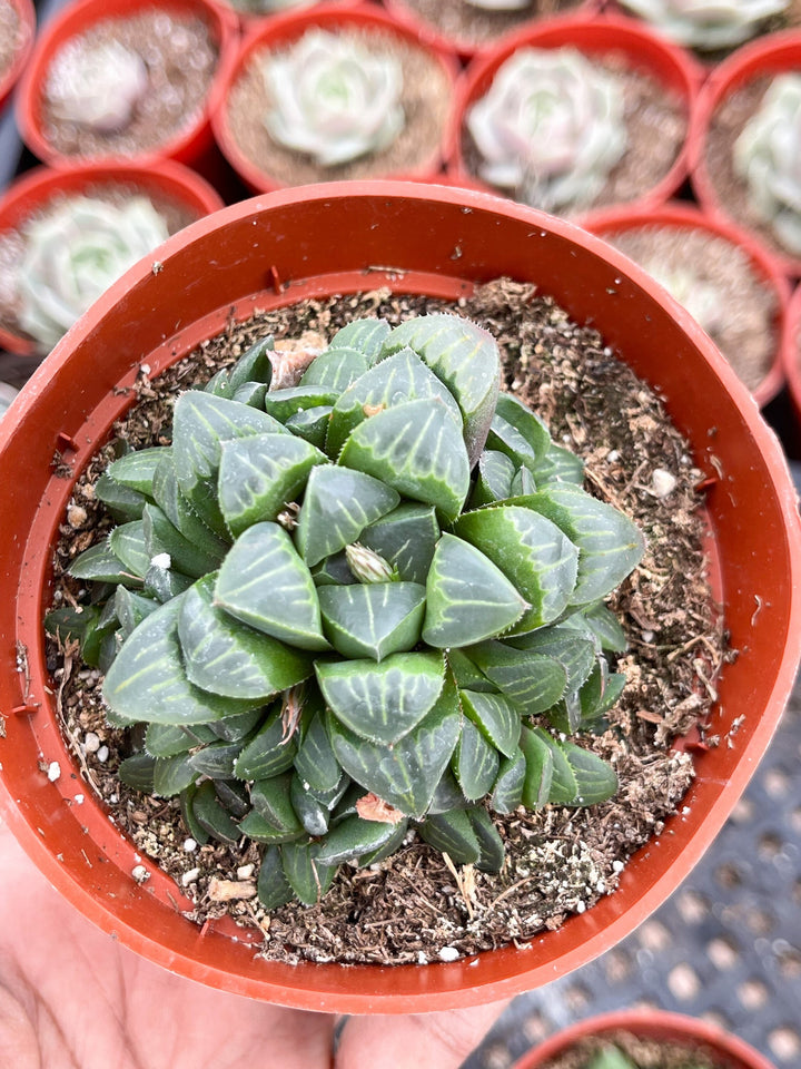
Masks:
[[[679,45],[711,51],[755,37],[764,22],[781,14],[789,0],[622,0]]]

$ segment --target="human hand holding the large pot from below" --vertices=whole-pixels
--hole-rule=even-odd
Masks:
[[[505,1003],[337,1018],[216,991],[139,958],[47,883],[0,823],[0,1066],[456,1069]]]

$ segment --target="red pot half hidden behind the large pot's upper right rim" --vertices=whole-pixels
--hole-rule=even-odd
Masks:
[[[767,291],[767,296],[772,300],[773,312],[769,316],[769,322],[765,324],[760,318],[761,328],[759,332],[756,332],[756,324],[754,323],[754,333],[761,335],[760,340],[765,339],[765,360],[762,365],[761,379],[751,383],[751,392],[760,408],[763,408],[775,398],[783,383],[781,339],[784,333],[790,292],[787,278],[779,271],[774,258],[748,232],[721,219],[712,219],[705,213],[698,210],[698,208],[693,206],[679,203],[641,209],[626,207],[609,208],[606,210],[591,213],[582,220],[582,225],[590,231],[591,234],[597,234],[613,245],[617,244],[617,236],[624,238],[625,235],[632,234],[632,232],[651,229],[663,232],[666,237],[672,236],[676,243],[682,234],[688,235],[691,233],[695,233],[699,241],[703,241],[705,237],[709,241],[725,243],[728,248],[723,245],[719,247],[721,249],[721,261],[725,258],[726,275],[731,274],[731,256],[738,255],[742,263],[742,267],[739,268],[739,271],[742,269],[751,275],[749,284],[752,287],[762,287]],[[623,251],[632,255],[627,248]],[[701,256],[701,253],[698,253],[695,261],[692,259],[693,255],[694,254],[690,253],[685,262],[690,268],[692,268],[693,263],[696,265],[700,264],[698,257]],[[633,258],[637,259],[636,256],[633,256]],[[642,263],[639,259],[637,262]],[[705,279],[705,275],[702,277]],[[740,277],[742,283],[742,277],[740,275],[738,275],[738,277]],[[698,296],[698,281],[699,276],[695,274],[691,274],[686,278],[686,284],[691,287],[689,296],[692,296],[693,291],[695,296]],[[676,285],[681,286],[681,284],[682,279],[676,279]],[[742,293],[742,286],[739,287],[739,292]],[[710,301],[712,301],[711,297]],[[714,302],[714,305],[719,307],[730,307],[725,298],[723,298],[722,303],[719,298]],[[729,315],[725,324],[722,324],[722,326],[729,326],[730,318],[731,315]],[[769,350],[770,341],[768,341],[768,337],[771,331],[773,335],[772,350]],[[716,341],[721,344],[720,340],[716,339]],[[732,343],[730,343],[730,359],[733,365],[736,366],[736,361],[742,353],[742,344],[733,344],[733,341],[732,339]],[[739,341],[741,343],[742,340],[740,339]],[[725,346],[721,344],[721,349],[725,350]],[[754,375],[755,380],[755,369],[752,369],[750,373]]]

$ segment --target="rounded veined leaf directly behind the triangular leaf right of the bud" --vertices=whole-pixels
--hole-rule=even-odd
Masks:
[[[497,565],[530,604],[512,634],[550,624],[564,611],[578,550],[551,520],[522,506],[487,506],[459,517],[454,530]]]

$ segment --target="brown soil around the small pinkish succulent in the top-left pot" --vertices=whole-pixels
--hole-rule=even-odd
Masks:
[[[65,70],[80,63],[83,50],[109,40],[141,56],[149,85],[130,124],[103,134],[55,116],[49,94]],[[217,59],[211,30],[200,18],[180,18],[154,8],[98,22],[68,41],[50,63],[41,90],[42,136],[63,156],[80,158],[130,157],[157,149],[197,121]]]

